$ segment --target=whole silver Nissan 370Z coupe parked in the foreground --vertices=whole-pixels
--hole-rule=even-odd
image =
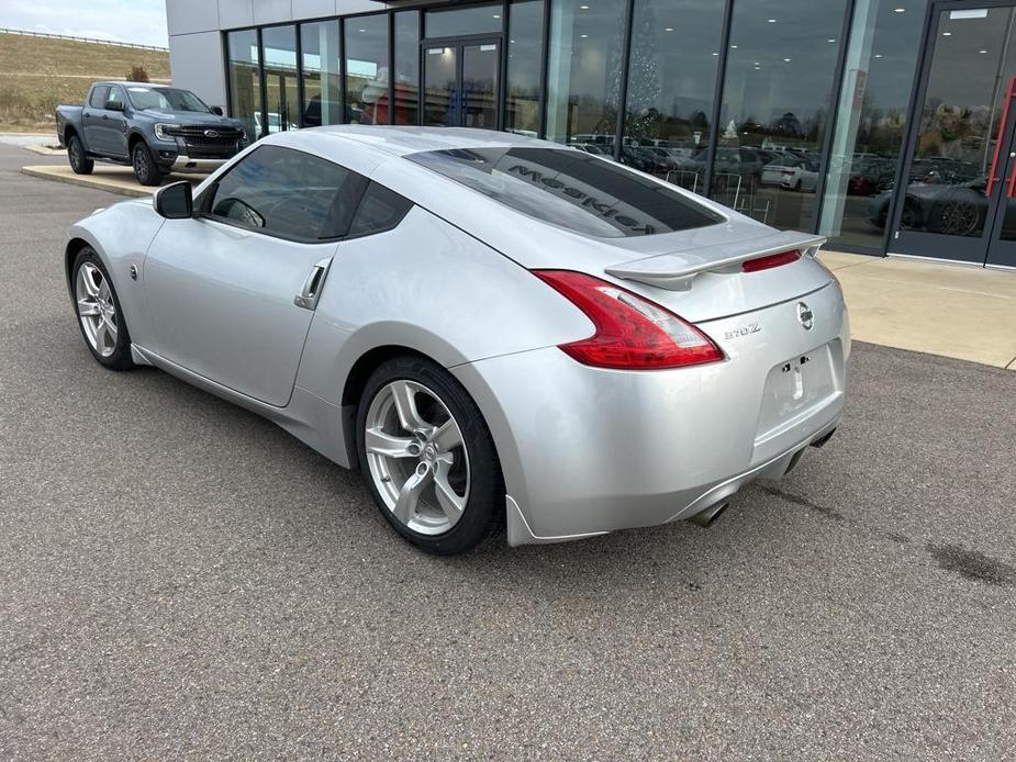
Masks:
[[[435,553],[691,519],[824,444],[850,351],[822,238],[505,133],[271,135],[74,225],[96,360],[358,468]]]

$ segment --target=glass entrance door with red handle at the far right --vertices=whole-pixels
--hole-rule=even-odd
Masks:
[[[891,253],[1016,266],[1014,32],[1013,0],[933,7],[909,155],[869,206]]]

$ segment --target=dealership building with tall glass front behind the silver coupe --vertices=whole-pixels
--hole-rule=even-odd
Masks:
[[[504,130],[830,247],[1016,267],[1016,0],[167,0],[250,136]]]

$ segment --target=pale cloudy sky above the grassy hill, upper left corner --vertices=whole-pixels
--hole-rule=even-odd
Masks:
[[[168,44],[166,0],[0,0],[0,27]]]

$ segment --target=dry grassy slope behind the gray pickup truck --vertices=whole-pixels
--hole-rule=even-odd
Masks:
[[[57,103],[80,103],[97,79],[144,66],[169,81],[169,54],[101,43],[0,33],[0,132],[48,132]]]

